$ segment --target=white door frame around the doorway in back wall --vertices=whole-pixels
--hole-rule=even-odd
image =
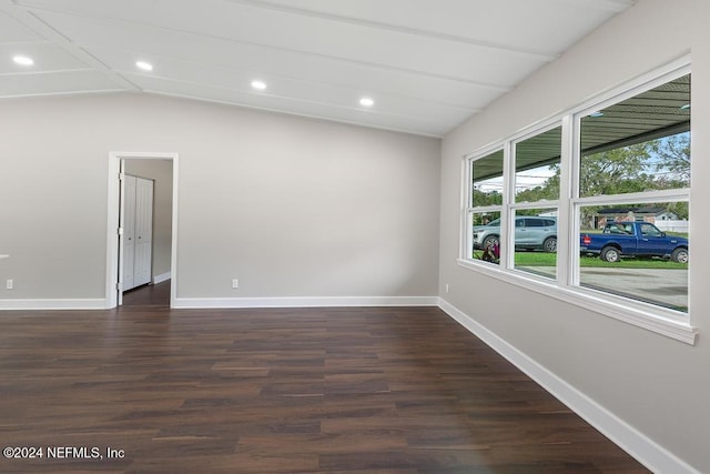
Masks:
[[[172,249],[170,262],[170,307],[175,307],[178,288],[178,153],[119,152],[109,153],[109,208],[106,224],[106,293],[105,307],[115,307],[120,300],[119,272],[119,219],[121,208],[120,174],[125,159],[171,160],[173,163]]]

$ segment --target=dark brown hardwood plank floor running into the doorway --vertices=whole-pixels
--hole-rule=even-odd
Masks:
[[[0,446],[43,448],[1,472],[647,472],[438,309],[170,310],[166,286],[0,313]]]

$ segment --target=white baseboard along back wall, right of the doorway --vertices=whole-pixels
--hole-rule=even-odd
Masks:
[[[437,296],[176,297],[174,307],[438,306]]]

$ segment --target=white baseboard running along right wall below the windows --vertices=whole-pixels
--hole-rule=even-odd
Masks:
[[[439,307],[652,472],[700,474],[699,471],[487,330],[456,306],[445,300],[439,300]]]

